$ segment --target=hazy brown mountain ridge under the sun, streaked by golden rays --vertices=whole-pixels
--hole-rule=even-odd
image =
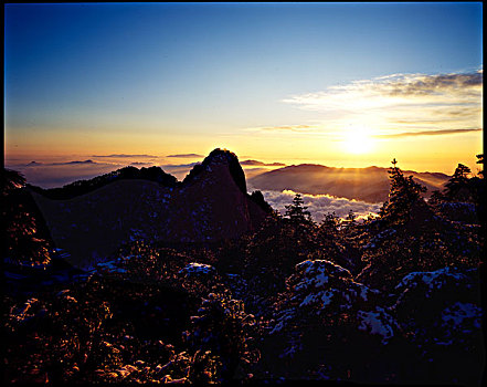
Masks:
[[[433,190],[444,188],[449,176],[441,172],[404,170],[416,182],[426,186],[428,197]],[[388,200],[388,168],[334,168],[315,164],[293,165],[254,176],[248,184],[260,190],[293,191],[310,195],[330,195],[340,198],[382,202]]]

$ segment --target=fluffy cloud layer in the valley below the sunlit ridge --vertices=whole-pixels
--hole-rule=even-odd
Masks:
[[[286,213],[286,207],[293,202],[296,195],[293,190],[272,191],[263,190],[265,200],[280,215]],[[308,211],[316,222],[321,222],[329,212],[335,212],[339,218],[346,218],[350,210],[358,217],[358,220],[367,218],[370,213],[377,215],[382,207],[381,203],[368,203],[364,201],[336,198],[329,195],[303,195],[301,198]]]

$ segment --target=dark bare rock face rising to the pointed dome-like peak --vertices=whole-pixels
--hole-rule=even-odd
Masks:
[[[213,150],[182,184],[117,180],[88,194],[53,200],[31,192],[57,248],[88,266],[136,239],[211,242],[255,229],[266,213],[246,194],[236,156]]]

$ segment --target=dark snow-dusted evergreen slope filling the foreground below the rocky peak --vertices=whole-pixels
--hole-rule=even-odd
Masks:
[[[222,194],[224,186],[207,185],[231,157],[212,153],[178,187],[181,198],[197,188],[199,198]],[[243,175],[223,169],[240,198]],[[60,252],[24,270],[14,263],[29,257],[11,243],[3,379],[485,385],[485,217],[472,216],[485,213],[485,181],[451,181],[425,201],[422,187],[395,166],[390,171],[388,203],[361,223],[329,216],[317,224],[294,200],[288,216],[274,213],[240,238],[174,247],[135,240],[89,271],[62,264]],[[24,192],[17,181],[2,192],[10,203]],[[17,208],[2,201],[11,240],[34,224],[18,199]]]

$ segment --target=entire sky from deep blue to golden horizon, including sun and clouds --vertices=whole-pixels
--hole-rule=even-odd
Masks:
[[[481,2],[6,4],[6,163],[177,165],[221,147],[264,163],[475,171],[481,13]]]

